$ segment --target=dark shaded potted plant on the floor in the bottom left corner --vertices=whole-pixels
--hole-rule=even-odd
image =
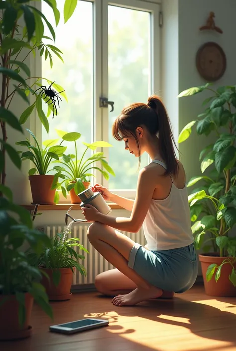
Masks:
[[[33,300],[52,318],[45,288],[39,283],[42,274],[30,264],[21,248],[27,244],[38,256],[43,245],[49,243],[46,234],[32,229],[27,210],[0,198],[0,340],[31,335]]]

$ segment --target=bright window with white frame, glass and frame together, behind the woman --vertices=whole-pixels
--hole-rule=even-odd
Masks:
[[[57,2],[62,17],[64,1]],[[42,6],[51,13],[45,2]],[[51,69],[42,58],[42,77],[62,85],[68,97],[58,116],[50,118],[49,137],[43,129],[43,140],[57,138],[55,129],[61,129],[81,133],[87,143],[111,143],[103,151],[116,177],[106,181],[99,173],[96,181],[124,196],[135,196],[138,160],[125,151],[124,142],[112,138],[111,126],[124,106],[146,102],[160,89],[158,16],[159,5],[145,1],[79,0],[69,21],[61,19],[56,28],[55,45],[64,64],[55,57]],[[110,105],[99,107],[100,97],[114,102],[113,112]],[[141,167],[148,161],[143,155]]]

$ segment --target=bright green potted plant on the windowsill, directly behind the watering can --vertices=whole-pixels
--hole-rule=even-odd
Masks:
[[[80,133],[65,133],[62,131],[57,131],[58,134],[62,137],[63,141],[74,142],[75,145],[75,154],[63,154],[60,158],[60,166],[55,166],[54,169],[62,174],[65,175],[65,179],[59,184],[62,190],[62,194],[66,198],[66,190],[70,193],[71,203],[72,204],[80,204],[81,200],[77,196],[83,190],[87,189],[90,184],[89,177],[94,176],[91,173],[91,170],[96,169],[102,173],[105,179],[109,179],[108,173],[115,176],[114,171],[108,165],[107,161],[105,161],[105,156],[103,152],[96,152],[93,155],[89,156],[88,158],[85,157],[86,152],[88,149],[96,150],[98,147],[111,147],[109,143],[105,141],[96,141],[92,144],[83,143],[85,145],[85,150],[79,158],[78,156],[78,147],[76,144],[76,140],[81,137]],[[101,169],[100,167],[94,165],[94,163],[100,162],[101,166],[105,169]],[[57,162],[57,161],[53,161]],[[62,167],[61,165],[65,166]],[[66,189],[63,186],[65,182]]]

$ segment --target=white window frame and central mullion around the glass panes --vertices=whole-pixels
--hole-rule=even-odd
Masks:
[[[151,79],[149,82],[150,95],[158,92],[161,87],[161,29],[159,26],[159,14],[161,11],[161,1],[149,2],[147,0],[83,0],[93,3],[93,123],[91,128],[92,140],[108,141],[108,112],[107,108],[99,107],[99,98],[108,96],[108,6],[120,6],[130,9],[137,9],[151,13]],[[41,3],[37,2],[38,9],[41,9]],[[35,60],[35,58],[34,58]],[[42,74],[42,58],[36,57],[35,73],[38,77]],[[110,107],[110,106],[109,106]],[[31,130],[34,131],[38,141],[42,143],[42,125],[38,118],[32,118]],[[108,157],[108,149],[97,149],[103,151]],[[149,159],[150,161],[150,159]],[[109,161],[108,161],[109,162]],[[138,166],[138,160],[137,160]],[[106,181],[100,172],[95,171],[96,183],[108,187]],[[134,199],[136,190],[133,189],[110,189],[113,193]],[[59,203],[70,203],[70,198],[65,199],[62,193],[59,193]]]

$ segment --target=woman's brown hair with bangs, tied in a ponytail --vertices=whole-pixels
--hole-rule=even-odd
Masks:
[[[134,103],[125,107],[112,126],[112,134],[116,140],[122,140],[124,135],[135,138],[138,147],[139,166],[140,144],[136,136],[136,129],[142,126],[145,126],[151,135],[158,134],[160,155],[166,164],[165,175],[176,175],[178,162],[174,146],[176,149],[177,146],[165,106],[156,95],[150,96],[147,104]]]

